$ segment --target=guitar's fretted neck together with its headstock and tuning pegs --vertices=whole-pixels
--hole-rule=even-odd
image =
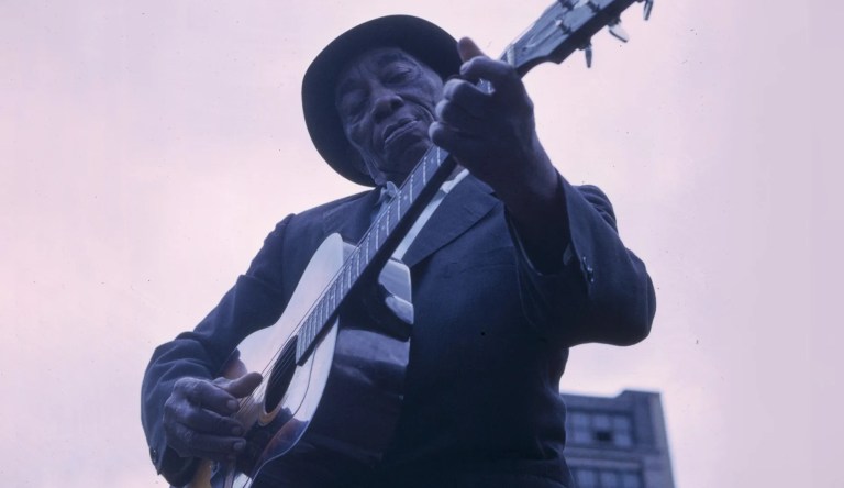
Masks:
[[[520,76],[541,63],[562,63],[577,49],[586,51],[590,64],[590,40],[606,25],[615,37],[626,41],[619,18],[635,2],[645,2],[647,19],[653,0],[558,0],[508,45],[500,59],[513,66]],[[486,92],[492,90],[486,80],[477,86]],[[298,364],[308,359],[323,329],[358,284],[370,281],[380,271],[456,167],[448,153],[437,146],[431,146],[422,156],[302,320],[297,341]]]

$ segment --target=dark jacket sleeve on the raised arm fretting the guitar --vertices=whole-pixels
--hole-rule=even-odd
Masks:
[[[553,256],[559,266],[536,269],[510,223],[517,247],[522,306],[531,323],[564,346],[588,342],[630,345],[645,339],[656,297],[644,263],[618,234],[607,196],[595,186],[562,180],[568,243]],[[537,256],[533,256],[537,257]],[[543,256],[543,262],[548,262]]]

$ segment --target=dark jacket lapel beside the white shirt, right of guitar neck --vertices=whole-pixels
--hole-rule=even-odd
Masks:
[[[466,232],[499,202],[489,186],[471,175],[467,176],[443,199],[408,248],[402,262],[410,267],[420,263]]]

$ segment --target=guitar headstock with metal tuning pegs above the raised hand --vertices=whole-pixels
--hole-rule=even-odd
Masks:
[[[609,26],[613,36],[626,42],[620,16],[636,2],[645,3],[647,20],[654,0],[557,0],[508,46],[502,59],[524,76],[541,63],[559,64],[576,49],[584,49],[587,66],[591,66],[592,35]]]

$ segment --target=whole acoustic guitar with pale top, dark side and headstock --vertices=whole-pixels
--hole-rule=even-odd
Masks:
[[[626,42],[619,19],[636,1],[647,19],[653,0],[558,0],[501,59],[520,76],[578,49],[591,65],[592,35],[609,26]],[[380,459],[401,406],[413,318],[410,273],[390,255],[456,166],[431,147],[357,245],[338,234],[322,243],[278,322],[247,336],[224,366],[229,378],[264,374],[235,414],[246,450],[231,463],[200,462],[188,487],[323,487]],[[378,325],[341,326],[341,307],[367,296]]]

